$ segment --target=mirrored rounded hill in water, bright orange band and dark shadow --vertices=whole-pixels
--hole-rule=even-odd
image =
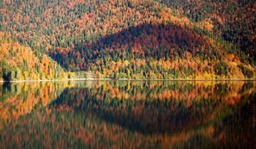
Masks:
[[[66,90],[59,98],[61,104],[58,102],[57,109],[82,109],[131,130],[163,133],[212,121],[221,110],[240,102],[241,96],[253,90],[252,85],[244,82],[91,82],[85,89]]]

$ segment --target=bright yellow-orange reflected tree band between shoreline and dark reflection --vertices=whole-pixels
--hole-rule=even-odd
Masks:
[[[238,101],[240,99],[240,90],[246,82],[225,82],[225,81],[131,81],[131,82],[90,82],[86,88],[90,88],[87,92],[91,96],[93,94],[96,99],[112,99],[118,100],[130,99],[138,100],[182,100],[188,104],[200,101],[201,98],[215,100],[223,100],[228,103]],[[87,83],[86,83],[87,84]],[[251,90],[246,90],[250,93]],[[246,93],[245,93],[246,94]],[[105,97],[106,96],[106,97]]]

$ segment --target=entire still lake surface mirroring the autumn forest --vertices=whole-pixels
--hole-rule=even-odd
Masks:
[[[256,82],[0,84],[0,148],[255,148]]]

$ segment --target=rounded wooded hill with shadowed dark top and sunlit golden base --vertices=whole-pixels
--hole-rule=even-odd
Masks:
[[[73,71],[96,71],[96,78],[253,78],[253,67],[230,50],[236,48],[170,21],[123,29],[70,51],[57,48],[51,56]]]

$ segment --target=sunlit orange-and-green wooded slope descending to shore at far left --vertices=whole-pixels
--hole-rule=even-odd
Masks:
[[[0,80],[64,78],[64,71],[46,54],[0,34]]]

